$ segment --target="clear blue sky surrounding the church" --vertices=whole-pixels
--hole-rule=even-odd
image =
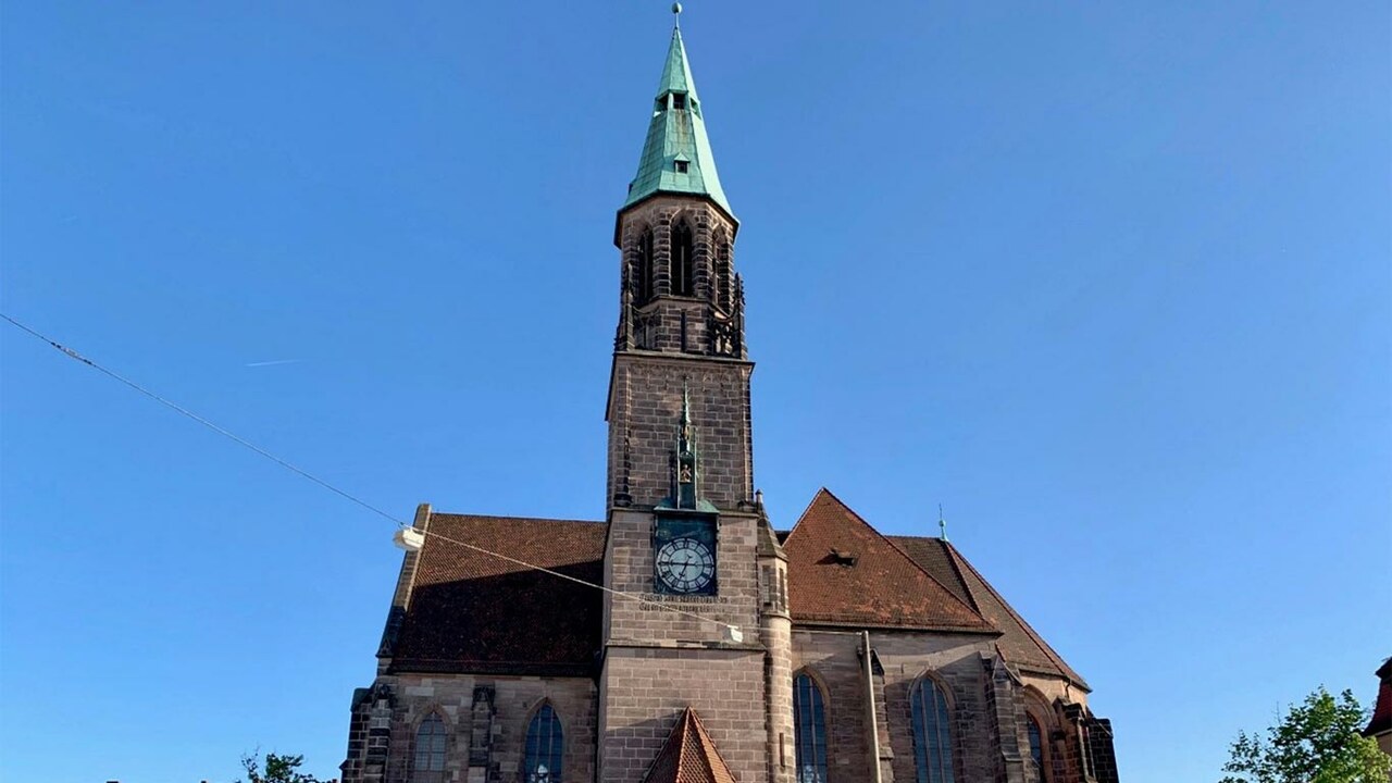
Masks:
[[[1128,783],[1392,655],[1385,3],[689,3],[757,483],[954,542]],[[409,518],[600,518],[665,3],[6,3],[0,309]],[[391,527],[0,329],[0,777],[337,775]],[[277,362],[277,364],[263,364]]]

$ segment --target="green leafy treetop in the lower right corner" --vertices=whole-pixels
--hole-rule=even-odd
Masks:
[[[1240,731],[1222,783],[1388,783],[1388,758],[1360,734],[1367,713],[1352,691],[1338,699],[1320,687],[1267,729]]]

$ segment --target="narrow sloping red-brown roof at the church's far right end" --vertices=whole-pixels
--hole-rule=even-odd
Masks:
[[[889,541],[903,549],[909,557],[928,571],[955,595],[970,600],[983,617],[999,628],[1001,638],[995,646],[1009,663],[1026,672],[1066,677],[1083,690],[1090,690],[1077,672],[1054,652],[1054,648],[1040,637],[1025,617],[1020,617],[1005,598],[967,563],[966,557],[947,541],[894,535]]]

